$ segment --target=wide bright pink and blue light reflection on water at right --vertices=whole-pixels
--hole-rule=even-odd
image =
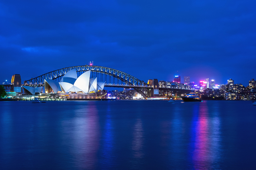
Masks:
[[[220,160],[220,121],[218,108],[210,115],[207,103],[195,105],[192,118],[189,154],[194,169],[219,168],[213,164]]]

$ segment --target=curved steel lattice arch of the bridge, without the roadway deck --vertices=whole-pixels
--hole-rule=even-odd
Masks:
[[[116,79],[121,80],[122,82],[126,83],[127,85],[132,86],[141,86],[141,87],[148,87],[148,84],[144,81],[137,79],[136,77],[124,73],[123,71],[119,71],[116,69],[112,69],[109,67],[102,67],[96,65],[80,65],[80,66],[73,66],[73,67],[65,67],[62,69],[54,70],[38,77],[32,78],[30,80],[25,80],[24,85],[26,84],[43,84],[45,79],[58,79],[65,75],[68,71],[76,69],[77,72],[85,72],[85,71],[92,71],[97,73],[102,73],[105,75],[112,76]]]

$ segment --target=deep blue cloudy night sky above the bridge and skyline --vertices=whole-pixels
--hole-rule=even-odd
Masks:
[[[0,81],[89,64],[148,81],[256,79],[254,0],[0,0]]]

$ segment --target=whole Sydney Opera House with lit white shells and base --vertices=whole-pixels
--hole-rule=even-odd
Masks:
[[[90,72],[86,71],[79,77],[76,69],[68,71],[57,82],[52,79],[44,80],[44,91],[42,97],[50,99],[67,99],[67,100],[87,100],[99,99],[104,97],[107,93],[103,91],[105,82],[97,82],[97,77],[90,78]],[[32,95],[40,94],[42,87],[22,86],[26,93]]]

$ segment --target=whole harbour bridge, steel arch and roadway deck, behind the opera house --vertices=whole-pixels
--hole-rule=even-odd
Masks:
[[[80,65],[74,67],[66,67],[58,70],[54,70],[38,77],[32,78],[30,80],[24,81],[24,86],[43,86],[45,79],[52,79],[60,82],[63,75],[68,71],[76,69],[78,76],[86,71],[91,71],[91,77],[97,77],[97,81],[105,82],[104,87],[122,87],[122,88],[132,88],[140,93],[143,97],[151,97],[153,95],[154,87],[148,85],[144,81],[137,79],[136,77],[112,69],[109,67],[102,67],[96,65]],[[157,87],[158,88],[158,87]],[[158,88],[159,91],[168,93],[190,93],[189,89],[179,89],[179,88]]]

